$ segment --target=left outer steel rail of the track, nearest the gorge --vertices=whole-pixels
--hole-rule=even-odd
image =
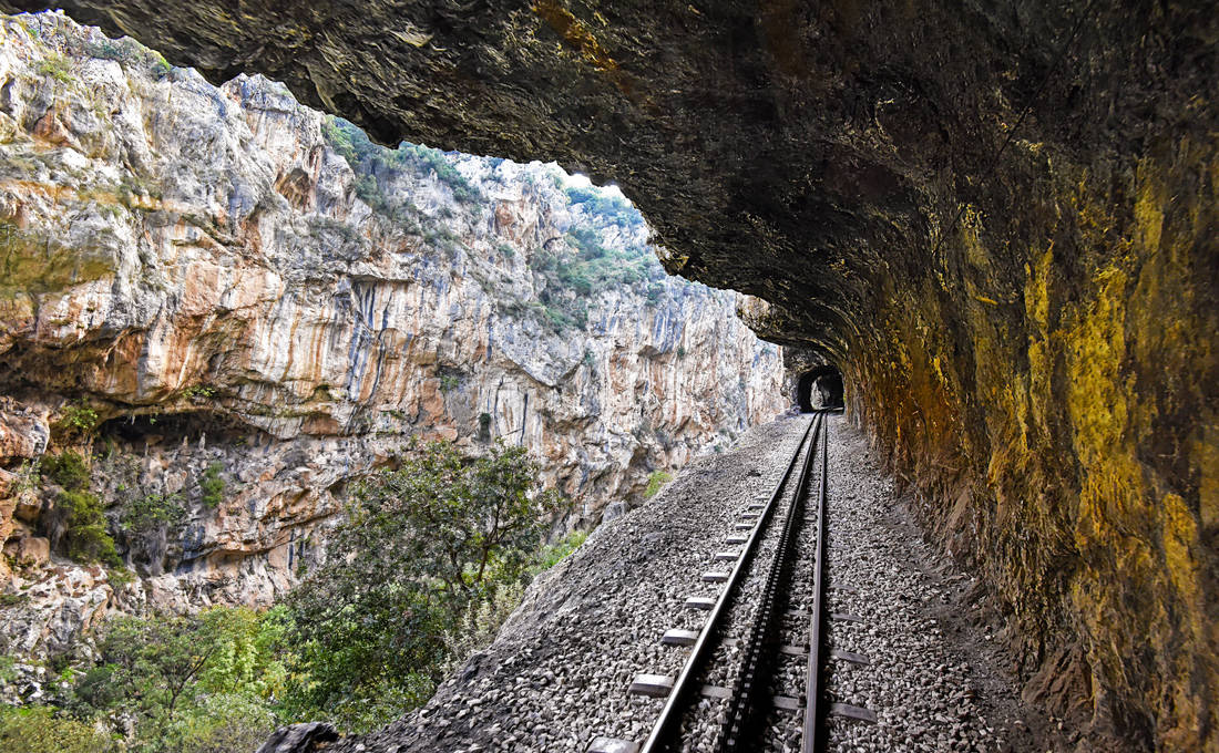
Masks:
[[[762,514],[758,515],[758,520],[753,525],[753,530],[750,532],[750,536],[745,542],[745,548],[741,550],[741,554],[736,558],[736,564],[733,567],[733,571],[724,582],[724,587],[719,592],[716,604],[711,608],[711,613],[707,615],[707,621],[703,624],[702,630],[698,631],[698,638],[690,649],[690,656],[681,666],[681,673],[678,675],[677,681],[674,681],[673,690],[669,691],[669,697],[664,702],[664,708],[661,709],[661,715],[657,716],[656,724],[652,725],[652,731],[647,736],[647,740],[644,741],[639,753],[659,753],[662,746],[668,742],[668,735],[673,731],[675,723],[680,719],[681,703],[686,695],[689,695],[696,685],[695,680],[698,670],[702,669],[702,662],[712,646],[712,638],[719,628],[719,620],[728,612],[728,606],[731,603],[736,587],[740,584],[745,570],[748,568],[750,562],[753,559],[753,553],[757,547],[757,542],[761,540],[762,530],[770,519],[778,500],[783,496],[787,480],[791,478],[791,472],[796,467],[796,461],[800,459],[800,452],[808,442],[809,435],[813,434],[813,424],[819,425],[820,420],[820,414],[808,420],[808,426],[805,429],[805,434],[800,439],[800,444],[796,445],[795,452],[791,453],[791,461],[787,462],[787,469],[784,472],[783,478],[770,493],[770,498],[767,501]],[[816,440],[816,435],[813,435],[813,437]],[[812,446],[808,450],[809,454],[814,451],[816,446]]]

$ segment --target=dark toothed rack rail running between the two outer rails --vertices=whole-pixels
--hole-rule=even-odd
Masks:
[[[818,442],[824,447],[824,414],[818,418],[820,420],[814,430],[808,454],[805,456],[805,465],[800,472],[800,480],[796,483],[796,493],[787,508],[787,519],[775,547],[774,559],[770,562],[770,570],[767,574],[762,598],[753,617],[748,641],[745,643],[741,671],[733,687],[727,720],[719,737],[720,753],[756,751],[757,736],[766,721],[764,712],[772,708],[768,684],[772,679],[769,673],[774,670],[779,649],[778,634],[781,613],[778,607],[783,597],[781,587],[791,582],[794,575],[795,559],[792,556],[796,552],[796,537],[805,521],[808,475],[816,462]]]

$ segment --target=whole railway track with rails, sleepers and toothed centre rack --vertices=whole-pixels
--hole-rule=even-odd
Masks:
[[[828,413],[809,418],[769,497],[740,511],[724,539],[736,548],[717,552],[700,578],[716,596],[685,598],[685,609],[706,612],[701,629],[661,636],[689,651],[680,673],[630,684],[664,699],[646,740],[594,737],[586,753],[819,753],[828,715],[875,723],[868,709],[830,703],[822,685],[829,670],[868,663],[825,647],[831,621],[862,621],[824,608]]]

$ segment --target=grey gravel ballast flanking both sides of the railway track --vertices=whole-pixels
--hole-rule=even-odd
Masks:
[[[698,626],[705,613],[683,609],[684,598],[711,595],[700,574],[731,548],[731,524],[764,501],[806,422],[785,414],[751,430],[599,528],[530,587],[496,641],[428,705],[335,753],[580,752],[592,736],[646,737],[662,702],[628,696],[631,679],[679,671],[685,652],[662,646],[661,635]],[[863,436],[834,418],[830,437],[831,578],[859,591],[842,606],[868,620],[836,634],[836,647],[873,658],[833,690],[880,718],[875,727],[836,727],[835,749],[1046,749],[1043,734],[1030,731],[1043,720],[1023,718],[981,638],[985,623],[968,619],[983,613],[962,585],[969,579],[930,559]]]

